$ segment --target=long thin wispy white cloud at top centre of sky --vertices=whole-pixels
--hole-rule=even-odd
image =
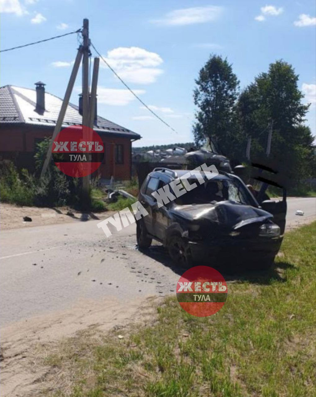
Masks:
[[[160,25],[192,25],[193,23],[205,23],[215,21],[222,13],[223,8],[218,6],[192,7],[168,12],[164,18],[152,20],[152,23]]]

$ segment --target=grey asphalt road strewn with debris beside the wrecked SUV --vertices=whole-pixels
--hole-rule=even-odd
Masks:
[[[304,216],[295,215],[303,210]],[[312,221],[315,198],[290,198],[287,224]],[[175,292],[179,274],[161,245],[137,251],[135,225],[106,238],[98,220],[4,230],[0,325],[111,297],[128,304],[142,295]]]

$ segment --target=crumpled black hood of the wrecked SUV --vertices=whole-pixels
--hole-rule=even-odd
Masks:
[[[273,215],[260,208],[250,205],[235,204],[231,201],[221,201],[216,204],[178,205],[171,211],[189,221],[207,219],[218,226],[238,229],[254,222],[264,222]]]

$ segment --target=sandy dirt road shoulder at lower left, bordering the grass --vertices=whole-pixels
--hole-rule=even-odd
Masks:
[[[96,303],[78,303],[71,310],[55,312],[24,320],[3,328],[1,351],[2,397],[42,396],[44,390],[53,389],[56,384],[69,382],[58,377],[51,366],[45,366],[45,358],[54,352],[57,343],[84,330],[110,331],[118,335],[129,324],[141,322],[144,326],[153,317],[156,304],[161,298],[135,299],[128,305],[116,300],[104,299]]]

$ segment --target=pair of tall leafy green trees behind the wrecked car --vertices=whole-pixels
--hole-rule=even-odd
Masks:
[[[230,159],[246,161],[250,139],[250,159],[266,156],[270,129],[270,157],[294,179],[314,176],[313,137],[304,124],[310,105],[303,103],[298,79],[293,66],[277,60],[240,90],[227,58],[211,55],[195,80],[195,144],[211,142]]]

